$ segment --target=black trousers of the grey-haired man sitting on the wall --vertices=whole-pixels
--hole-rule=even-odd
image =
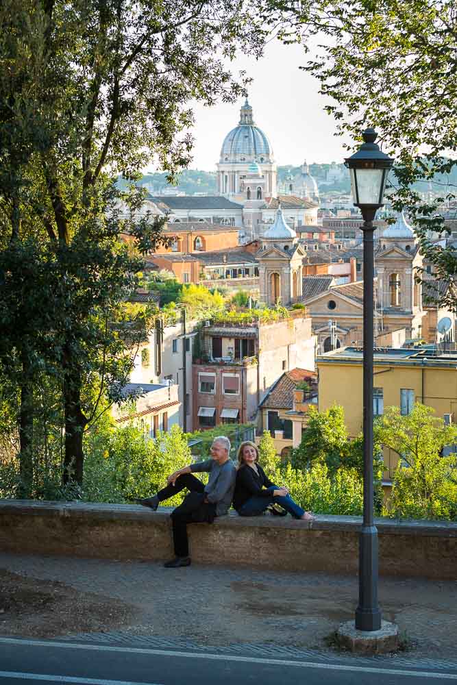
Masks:
[[[205,486],[203,483],[192,475],[192,473],[184,473],[176,479],[175,485],[167,485],[166,488],[157,493],[160,502],[169,497],[173,497],[176,493],[187,488],[190,490],[189,495],[186,496],[183,503],[171,513],[171,522],[173,524],[173,545],[175,546],[175,555],[179,557],[189,556],[189,545],[187,538],[187,524],[188,523],[212,523],[216,516],[216,505],[204,502]]]

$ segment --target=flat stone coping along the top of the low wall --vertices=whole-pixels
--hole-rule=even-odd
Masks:
[[[0,499],[0,514],[25,516],[66,516],[73,519],[92,519],[94,521],[137,521],[165,523],[173,507],[160,507],[153,512],[137,504],[107,504],[92,502],[36,501],[28,499]],[[296,521],[287,516],[238,516],[230,511],[220,516],[216,525],[248,528],[308,529],[357,532],[362,523],[361,516],[333,516],[317,514],[317,520],[310,523]],[[457,538],[457,523],[451,521],[428,521],[425,519],[388,519],[376,518],[378,532],[384,535],[438,536]]]

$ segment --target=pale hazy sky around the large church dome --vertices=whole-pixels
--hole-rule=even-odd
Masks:
[[[323,110],[328,101],[319,95],[319,82],[299,71],[305,59],[298,45],[282,45],[275,40],[258,62],[243,58],[235,64],[254,78],[249,104],[256,125],[271,142],[277,164],[343,162],[347,152],[342,138],[334,136],[334,120]],[[195,105],[194,161],[190,168],[215,169],[224,137],[238,124],[242,103],[212,108]]]

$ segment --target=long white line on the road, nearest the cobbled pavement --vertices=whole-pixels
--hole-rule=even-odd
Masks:
[[[174,651],[171,649],[147,649],[145,647],[110,647],[109,645],[84,645],[83,643],[59,643],[53,640],[21,640],[20,638],[0,638],[0,645],[28,645],[29,647],[62,647],[63,649],[82,649],[84,651],[115,651],[127,654],[149,654],[151,656],[175,656],[183,659],[206,659],[212,661],[234,661],[247,664],[266,664],[271,666],[295,666],[300,669],[323,669],[325,671],[349,671],[351,673],[385,673],[386,675],[404,675],[417,678],[435,678],[436,680],[457,680],[457,673],[436,671],[408,671],[402,669],[376,669],[368,666],[350,666],[345,664],[322,664],[312,661],[293,661],[288,659],[262,659],[254,656],[231,656],[228,654],[204,654],[192,651]],[[79,682],[79,681],[78,681]],[[86,682],[90,682],[86,680]],[[95,681],[96,683],[101,681]],[[108,682],[108,681],[107,681]],[[112,681],[122,685],[119,681]],[[143,684],[141,684],[143,685]],[[153,685],[153,684],[144,684]]]

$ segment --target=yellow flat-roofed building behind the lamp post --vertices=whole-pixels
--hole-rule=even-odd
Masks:
[[[362,430],[363,350],[342,347],[317,357],[319,373],[319,411],[333,404],[345,412],[350,436]],[[457,412],[457,353],[441,354],[430,349],[375,349],[373,377],[375,415],[384,408],[400,407],[408,414],[415,402],[432,407],[436,416],[454,421]],[[384,479],[390,480],[399,456],[384,453]]]

